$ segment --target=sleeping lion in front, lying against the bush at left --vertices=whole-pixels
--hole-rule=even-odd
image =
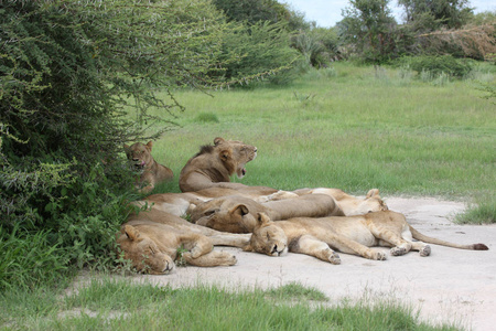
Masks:
[[[214,250],[214,246],[244,247],[248,239],[247,235],[222,233],[158,210],[131,214],[117,234],[123,257],[138,271],[152,275],[170,274],[180,257],[198,267],[233,266],[236,257]]]

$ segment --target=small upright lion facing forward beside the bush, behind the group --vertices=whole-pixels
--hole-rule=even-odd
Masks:
[[[132,162],[137,170],[141,171],[141,175],[136,184],[136,188],[141,193],[149,193],[155,188],[155,184],[171,181],[174,178],[171,169],[153,159],[151,156],[152,146],[152,141],[149,141],[147,145],[136,142],[131,146],[123,146],[128,160]]]

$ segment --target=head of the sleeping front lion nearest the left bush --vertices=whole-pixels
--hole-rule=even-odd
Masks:
[[[132,225],[122,227],[117,244],[138,271],[166,275],[174,269],[173,258],[160,252],[155,242]]]

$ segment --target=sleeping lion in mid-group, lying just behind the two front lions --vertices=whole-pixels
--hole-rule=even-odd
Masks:
[[[300,216],[344,216],[334,199],[325,194],[308,194],[265,203],[230,195],[198,204],[191,211],[191,221],[217,231],[251,233],[257,225],[258,213],[265,213],[271,220],[278,221]]]

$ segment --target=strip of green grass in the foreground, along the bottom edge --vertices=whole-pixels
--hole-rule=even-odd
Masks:
[[[39,291],[41,293],[41,291]],[[0,297],[2,330],[457,330],[421,322],[391,300],[332,302],[298,284],[233,292],[172,289],[127,279],[93,278],[73,293]],[[9,300],[9,301],[8,301]],[[374,302],[377,301],[377,302]]]

